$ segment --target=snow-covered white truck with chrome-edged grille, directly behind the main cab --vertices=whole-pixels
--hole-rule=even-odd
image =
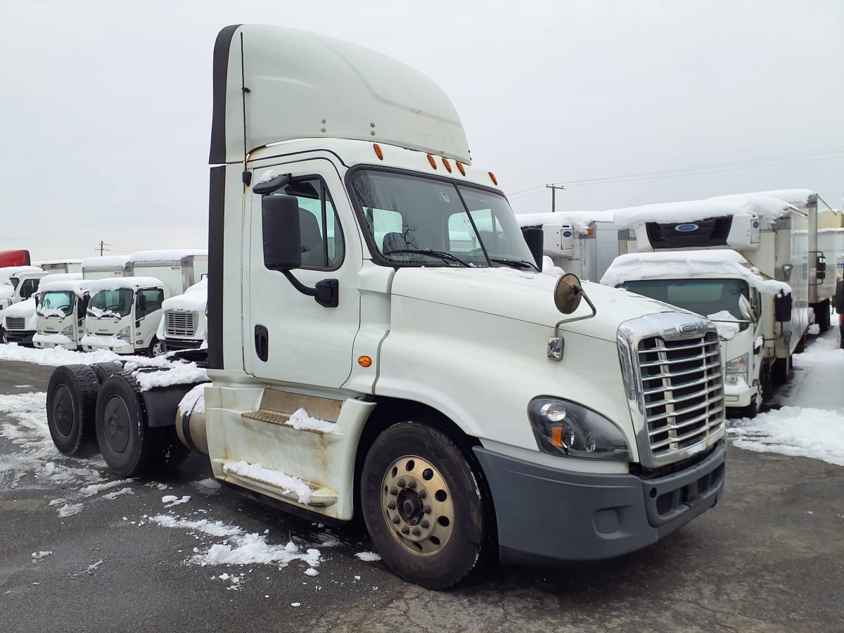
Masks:
[[[164,316],[156,334],[163,351],[199,349],[207,343],[207,277],[193,284],[183,295],[165,300],[163,307]]]

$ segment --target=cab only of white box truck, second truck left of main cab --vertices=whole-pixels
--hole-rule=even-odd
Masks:
[[[92,281],[85,312],[85,351],[111,349],[116,354],[160,354],[155,333],[170,290],[153,277]]]

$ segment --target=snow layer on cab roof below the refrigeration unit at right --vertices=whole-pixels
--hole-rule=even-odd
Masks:
[[[738,252],[730,249],[707,251],[657,251],[619,255],[603,273],[601,284],[618,286],[643,279],[701,279],[739,277],[764,295],[791,292],[782,281],[764,279],[759,270]]]

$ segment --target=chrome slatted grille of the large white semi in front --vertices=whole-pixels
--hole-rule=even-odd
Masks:
[[[694,446],[722,428],[724,396],[716,333],[673,340],[642,338],[637,351],[653,457]]]

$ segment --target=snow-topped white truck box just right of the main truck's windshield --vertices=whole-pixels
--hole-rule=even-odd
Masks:
[[[566,273],[599,281],[619,254],[618,231],[609,211],[517,214],[522,228],[543,230],[543,254]]]

